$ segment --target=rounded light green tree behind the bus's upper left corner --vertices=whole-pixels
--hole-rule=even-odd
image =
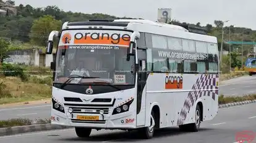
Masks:
[[[33,44],[45,46],[48,35],[53,30],[61,30],[62,22],[51,15],[44,15],[33,22],[30,40]]]

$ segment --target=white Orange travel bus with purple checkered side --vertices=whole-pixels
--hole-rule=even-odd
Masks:
[[[213,36],[149,20],[66,22],[53,75],[51,123],[92,129],[198,131],[218,112],[218,46]]]

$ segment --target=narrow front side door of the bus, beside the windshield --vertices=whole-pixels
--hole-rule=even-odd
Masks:
[[[147,57],[145,49],[137,49],[139,72],[137,79],[137,126],[145,125],[146,115],[146,83],[147,83]]]

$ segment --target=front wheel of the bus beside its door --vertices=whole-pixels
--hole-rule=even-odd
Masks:
[[[139,129],[139,134],[143,139],[151,139],[153,137],[155,133],[155,121],[155,113],[152,110],[150,116],[150,126]]]

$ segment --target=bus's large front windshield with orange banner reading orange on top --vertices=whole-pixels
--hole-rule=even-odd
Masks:
[[[64,83],[69,76],[85,76],[70,83],[134,84],[134,57],[126,60],[131,34],[108,30],[62,31],[54,81]]]

